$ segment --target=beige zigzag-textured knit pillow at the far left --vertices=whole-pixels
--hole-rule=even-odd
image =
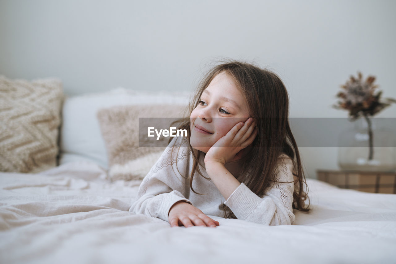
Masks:
[[[63,99],[57,78],[0,76],[0,171],[36,173],[57,166]]]

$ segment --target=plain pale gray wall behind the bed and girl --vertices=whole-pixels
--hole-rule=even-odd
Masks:
[[[0,74],[59,77],[72,96],[122,86],[193,90],[216,59],[275,71],[291,117],[331,109],[357,71],[396,98],[396,1],[0,0]],[[396,106],[378,117],[396,117]],[[301,147],[308,176],[337,168],[337,147]]]

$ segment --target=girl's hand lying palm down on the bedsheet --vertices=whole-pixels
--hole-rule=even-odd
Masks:
[[[178,201],[172,205],[168,215],[169,224],[174,226],[210,226],[216,227],[220,223],[213,220],[200,209],[185,201]]]

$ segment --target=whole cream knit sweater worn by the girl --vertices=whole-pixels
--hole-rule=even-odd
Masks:
[[[175,144],[171,156],[171,147]],[[196,172],[190,189],[188,176],[192,170],[193,156],[188,148],[187,137],[175,137],[166,147],[160,159],[143,179],[130,212],[145,214],[168,221],[169,209],[178,201],[187,201],[206,215],[224,217],[222,204],[227,205],[240,220],[258,224],[277,226],[293,224],[293,164],[291,159],[282,154],[278,167],[272,176],[280,182],[268,187],[266,195],[257,196],[244,183],[241,183],[225,201],[223,195],[211,180],[206,180]],[[179,154],[177,155],[177,152]],[[177,168],[176,168],[177,161]],[[204,165],[204,155],[200,162]],[[198,165],[202,174],[209,178],[205,167]],[[174,170],[174,171],[173,171]],[[179,172],[178,172],[179,170]],[[182,177],[185,176],[187,179]]]

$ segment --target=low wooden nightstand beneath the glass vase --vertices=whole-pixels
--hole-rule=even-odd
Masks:
[[[316,170],[318,180],[369,193],[396,193],[396,172]]]

